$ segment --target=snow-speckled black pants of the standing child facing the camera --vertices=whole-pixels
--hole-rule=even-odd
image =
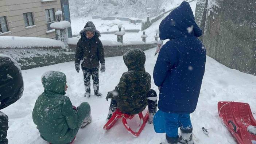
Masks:
[[[82,70],[83,70],[83,74],[84,74],[85,92],[86,93],[91,92],[90,81],[91,81],[91,75],[92,75],[94,94],[97,94],[99,91],[99,67],[95,67],[92,69],[83,67]]]

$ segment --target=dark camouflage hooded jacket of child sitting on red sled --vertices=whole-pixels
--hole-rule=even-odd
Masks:
[[[137,114],[147,106],[147,92],[151,87],[150,74],[145,71],[145,53],[140,49],[133,49],[123,56],[128,71],[123,73],[115,90],[118,96],[117,106],[126,114]]]

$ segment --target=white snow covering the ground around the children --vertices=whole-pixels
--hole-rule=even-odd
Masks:
[[[191,3],[191,8],[195,11],[195,3]],[[158,22],[152,24],[146,30],[148,38],[153,39],[155,30],[158,28]],[[84,21],[84,24],[87,20]],[[95,22],[93,20],[93,22]],[[83,25],[84,25],[83,24]],[[96,27],[98,24],[95,22]],[[74,24],[72,24],[74,26]],[[78,26],[78,25],[77,25]],[[84,26],[81,25],[83,28]],[[81,28],[81,29],[82,29]],[[140,38],[138,34],[126,34],[129,40]],[[116,40],[116,36],[102,35],[102,40]],[[125,40],[125,39],[124,39]],[[156,57],[155,48],[145,51],[146,53],[146,71],[152,75]],[[69,86],[66,96],[70,97],[73,105],[79,105],[81,102],[89,102],[92,108],[93,121],[85,129],[79,130],[74,144],[159,144],[165,139],[165,134],[154,132],[152,124],[146,124],[144,130],[138,138],[134,138],[118,121],[109,131],[104,131],[103,126],[106,123],[106,115],[110,101],[105,100],[108,91],[113,90],[127,67],[122,57],[106,58],[106,71],[100,73],[100,92],[103,97],[91,96],[85,98],[82,73],[77,73],[74,69],[74,62],[59,63],[46,67],[38,67],[30,70],[23,70],[24,93],[19,101],[3,109],[3,112],[9,117],[8,136],[9,144],[47,144],[40,138],[39,132],[32,121],[32,109],[36,98],[43,92],[41,84],[41,75],[48,70],[62,71],[67,76],[67,85]],[[152,89],[159,93],[151,78]],[[93,89],[93,88],[91,88]],[[229,131],[222,125],[218,117],[218,101],[239,101],[247,102],[251,105],[252,112],[256,117],[256,77],[253,75],[241,73],[240,71],[229,69],[207,57],[206,70],[203,77],[201,93],[198,100],[197,109],[191,114],[193,124],[193,133],[196,144],[234,144],[235,141]],[[93,93],[92,93],[93,94]],[[131,128],[135,129],[139,119],[135,117],[128,121]],[[209,135],[202,132],[202,127],[213,128],[209,130]]]

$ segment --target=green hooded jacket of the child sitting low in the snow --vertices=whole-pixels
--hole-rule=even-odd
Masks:
[[[44,92],[37,98],[32,117],[41,137],[52,144],[70,143],[81,124],[69,97],[64,96],[66,75],[48,71],[42,76]]]

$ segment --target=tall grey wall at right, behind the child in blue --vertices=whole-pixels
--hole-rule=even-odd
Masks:
[[[232,69],[256,75],[255,8],[255,0],[208,0],[203,11],[205,26],[201,25],[207,55]]]

